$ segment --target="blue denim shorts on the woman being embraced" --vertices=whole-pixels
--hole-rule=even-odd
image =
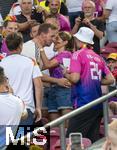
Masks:
[[[51,87],[47,104],[48,112],[58,112],[62,109],[72,109],[71,88],[64,88],[57,85]]]

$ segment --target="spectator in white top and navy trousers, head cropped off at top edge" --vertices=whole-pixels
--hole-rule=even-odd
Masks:
[[[71,28],[75,25],[75,18],[79,17],[82,12],[83,0],[66,0],[68,15],[71,23]]]

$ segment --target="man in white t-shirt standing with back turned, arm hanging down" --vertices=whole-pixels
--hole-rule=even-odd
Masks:
[[[9,78],[9,84],[13,88],[14,94],[20,97],[27,108],[28,118],[21,120],[21,125],[32,125],[34,122],[34,112],[36,120],[41,118],[42,101],[42,73],[36,62],[28,57],[20,55],[23,39],[18,33],[9,34],[6,38],[6,44],[10,55],[0,62]],[[34,91],[35,89],[35,103]]]

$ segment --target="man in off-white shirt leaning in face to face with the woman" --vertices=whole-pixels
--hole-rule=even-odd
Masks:
[[[53,54],[53,48],[54,44],[52,42],[55,40],[55,37],[57,35],[57,28],[51,24],[44,23],[39,26],[38,34],[36,37],[34,37],[32,40],[26,42],[23,44],[23,49],[21,54],[33,59],[36,59],[36,61],[40,62],[40,50],[38,49],[37,43],[39,41],[43,42],[43,46],[47,46],[45,48],[45,52],[47,56],[49,54]],[[51,46],[51,47],[50,47]],[[37,58],[37,51],[38,51],[38,58]],[[54,56],[54,55],[53,55]],[[53,57],[52,56],[52,57]]]

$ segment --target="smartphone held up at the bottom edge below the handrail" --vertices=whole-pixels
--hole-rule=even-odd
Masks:
[[[70,139],[70,146],[71,150],[82,150],[82,134],[77,132],[77,133],[70,133],[69,135]]]

